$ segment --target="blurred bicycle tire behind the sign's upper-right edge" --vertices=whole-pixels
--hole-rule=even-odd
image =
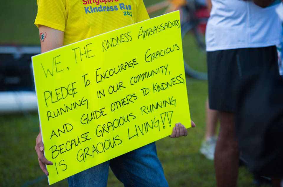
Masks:
[[[197,45],[198,50],[200,50],[203,55],[205,56],[206,59],[206,51],[205,51],[205,41],[204,41],[204,36],[203,34],[200,33],[200,31],[198,31],[197,27],[192,24],[192,23],[185,23],[181,26],[181,33],[182,33],[182,41],[184,41],[184,37],[189,34],[192,35],[194,38],[194,42]],[[195,79],[198,80],[208,80],[208,75],[207,72],[202,72],[199,71],[198,69],[194,69],[193,67],[191,67],[187,62],[189,61],[189,59],[185,59],[185,53],[187,52],[186,49],[184,48],[184,44],[183,44],[183,54],[184,54],[184,68],[185,68],[185,73]],[[196,62],[199,64],[199,62]],[[202,62],[204,63],[204,62]],[[206,66],[206,60],[205,60],[205,66]]]

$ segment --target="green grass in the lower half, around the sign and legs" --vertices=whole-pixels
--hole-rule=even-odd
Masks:
[[[197,127],[187,137],[163,138],[156,142],[157,154],[169,186],[215,186],[213,161],[199,153],[205,132],[207,82],[186,78],[190,114]],[[37,113],[0,116],[0,186],[22,186],[43,175],[34,150],[38,134]],[[252,186],[252,175],[241,167],[238,186]],[[47,178],[31,186],[48,186]],[[68,186],[67,180],[52,186]],[[123,186],[109,171],[108,186]]]

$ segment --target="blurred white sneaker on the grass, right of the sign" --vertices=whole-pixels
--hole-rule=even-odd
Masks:
[[[202,153],[207,159],[214,160],[214,151],[216,146],[217,137],[213,136],[207,141],[203,141],[200,153]]]

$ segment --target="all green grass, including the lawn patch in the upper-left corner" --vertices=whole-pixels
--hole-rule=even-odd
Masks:
[[[145,0],[146,6],[157,0]],[[0,44],[40,45],[33,24],[36,1],[0,1]],[[157,13],[158,14],[158,13]],[[190,114],[197,127],[182,138],[163,138],[156,142],[157,153],[169,186],[216,186],[213,161],[199,153],[205,133],[207,81],[186,77]],[[0,115],[0,187],[49,186],[34,150],[39,132],[37,113]],[[238,186],[253,186],[252,175],[239,169]],[[67,180],[52,186],[68,186]],[[123,186],[111,170],[108,186]]]

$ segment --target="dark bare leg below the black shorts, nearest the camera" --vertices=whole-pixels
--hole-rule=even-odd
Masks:
[[[220,131],[214,154],[218,187],[234,187],[237,183],[239,148],[234,118],[234,113],[219,112]]]

